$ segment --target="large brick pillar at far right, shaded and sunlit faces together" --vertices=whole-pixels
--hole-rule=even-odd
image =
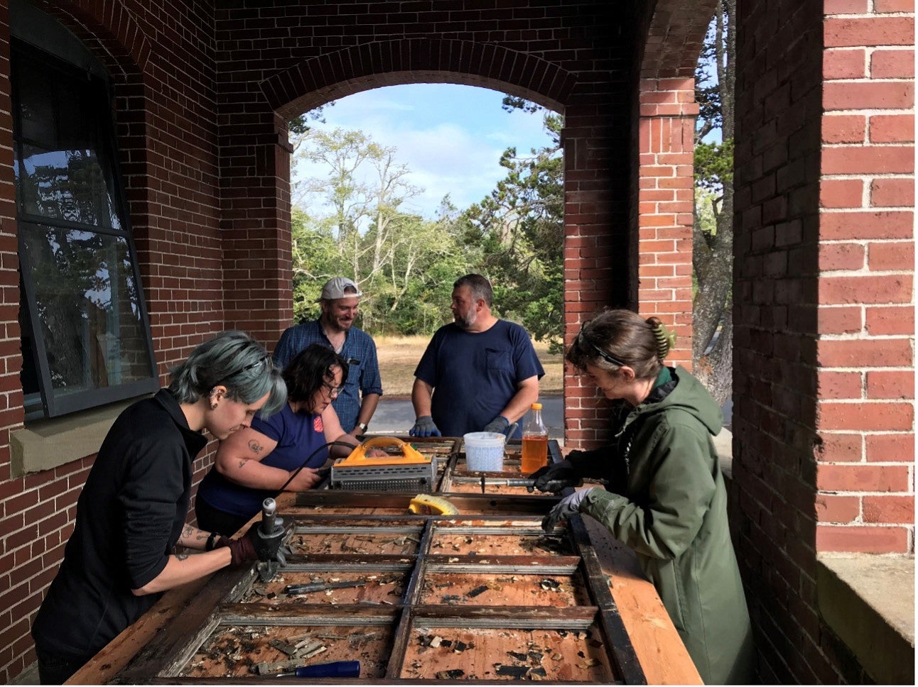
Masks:
[[[740,3],[733,480],[765,682],[867,679],[817,611],[816,554],[913,551],[903,9]]]

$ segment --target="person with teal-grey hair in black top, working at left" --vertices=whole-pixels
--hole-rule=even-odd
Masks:
[[[270,542],[253,542],[218,540],[185,524],[204,431],[235,436],[256,413],[284,404],[267,351],[226,332],[194,349],[171,378],[118,416],[86,477],[61,569],[32,626],[42,684],[67,680],[165,590],[259,555],[274,558],[282,543],[283,528]],[[175,553],[176,545],[201,552]]]

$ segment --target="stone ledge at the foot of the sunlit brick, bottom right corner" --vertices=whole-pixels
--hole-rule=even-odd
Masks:
[[[914,684],[914,580],[913,558],[816,558],[819,612],[878,684]]]

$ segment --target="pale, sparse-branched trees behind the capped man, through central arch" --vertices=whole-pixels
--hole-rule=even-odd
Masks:
[[[420,189],[408,183],[409,170],[397,161],[395,148],[361,131],[308,129],[297,140],[295,163],[316,162],[325,172],[297,182],[302,191],[293,222],[297,318],[315,316],[320,284],[344,274],[364,291],[362,327],[402,334],[439,327],[437,314],[448,314],[449,294],[442,297],[437,280],[449,266],[452,284],[468,253],[456,241],[455,209],[435,221],[403,212],[402,205]]]

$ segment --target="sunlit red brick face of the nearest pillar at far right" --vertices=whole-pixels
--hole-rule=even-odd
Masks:
[[[913,3],[826,7],[816,548],[913,553]]]

